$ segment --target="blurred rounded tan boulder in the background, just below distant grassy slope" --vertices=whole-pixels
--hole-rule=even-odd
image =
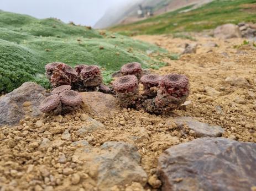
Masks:
[[[239,27],[234,24],[224,24],[214,30],[214,37],[220,39],[231,39],[242,37]]]

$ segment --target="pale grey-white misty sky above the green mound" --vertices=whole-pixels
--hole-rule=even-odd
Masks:
[[[68,23],[93,26],[108,8],[135,0],[0,0],[0,9],[42,19],[54,17]]]

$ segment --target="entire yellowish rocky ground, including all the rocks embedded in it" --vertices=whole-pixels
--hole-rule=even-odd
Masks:
[[[190,35],[134,37],[170,52],[151,73],[190,79],[189,98],[169,114],[82,92],[81,108],[48,116],[38,106],[49,90],[35,83],[2,96],[0,189],[256,190],[255,44]]]

